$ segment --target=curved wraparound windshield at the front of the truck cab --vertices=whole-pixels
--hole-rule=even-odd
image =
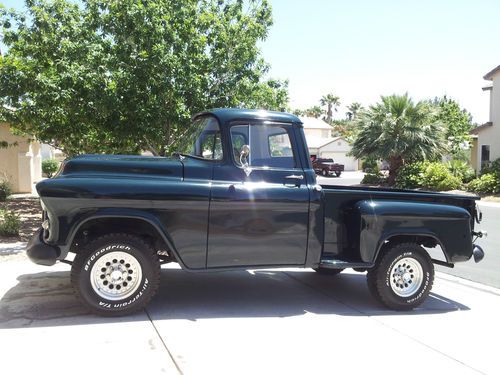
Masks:
[[[179,153],[209,160],[222,159],[219,122],[212,116],[196,118],[191,133],[183,140]]]

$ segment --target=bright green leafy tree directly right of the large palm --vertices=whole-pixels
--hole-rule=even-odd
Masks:
[[[452,157],[460,158],[464,148],[468,148],[471,141],[469,134],[473,128],[471,114],[446,96],[435,98],[432,104],[437,108],[436,121],[444,126],[444,139],[448,143]]]

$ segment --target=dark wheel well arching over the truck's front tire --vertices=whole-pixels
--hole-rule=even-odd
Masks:
[[[168,243],[151,223],[136,218],[105,217],[83,223],[73,237],[71,252],[77,253],[87,242],[109,233],[126,233],[146,241],[157,251],[166,251],[173,256]]]

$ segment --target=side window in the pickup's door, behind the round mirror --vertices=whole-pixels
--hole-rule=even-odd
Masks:
[[[279,124],[231,127],[231,145],[236,165],[241,166],[243,145],[250,146],[248,164],[253,167],[295,168],[289,127]]]

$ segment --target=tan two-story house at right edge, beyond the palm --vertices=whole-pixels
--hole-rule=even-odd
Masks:
[[[500,158],[500,65],[483,78],[492,82],[483,88],[490,93],[490,114],[488,122],[471,131],[471,163],[476,171],[481,170],[485,163]]]

